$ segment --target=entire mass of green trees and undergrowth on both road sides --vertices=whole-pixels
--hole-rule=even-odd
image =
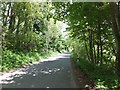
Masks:
[[[0,10],[1,70],[35,61],[31,55],[71,51],[97,84],[120,87],[120,2],[0,2]]]

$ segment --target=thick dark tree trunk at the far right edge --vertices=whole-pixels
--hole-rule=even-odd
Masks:
[[[120,14],[118,5],[114,2],[110,3],[111,15],[112,15],[112,30],[114,32],[115,41],[116,41],[116,68],[117,74],[120,76]]]

